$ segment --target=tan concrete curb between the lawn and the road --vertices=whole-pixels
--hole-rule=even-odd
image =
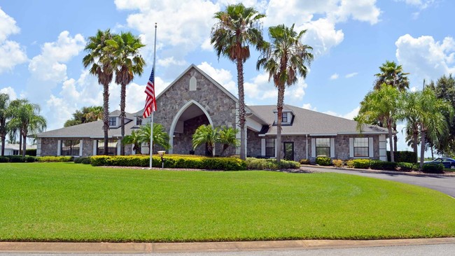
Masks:
[[[37,243],[0,242],[0,253],[207,253],[417,246],[455,243],[455,237],[395,240],[295,240],[209,243]]]

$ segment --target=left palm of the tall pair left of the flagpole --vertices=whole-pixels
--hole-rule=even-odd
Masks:
[[[85,68],[90,66],[90,73],[97,76],[98,83],[103,85],[103,131],[104,148],[108,148],[109,133],[109,83],[113,77],[113,52],[106,43],[115,36],[111,31],[101,31],[98,29],[95,36],[90,36],[85,45],[88,54],[83,57],[82,62]],[[107,154],[107,150],[105,150]]]

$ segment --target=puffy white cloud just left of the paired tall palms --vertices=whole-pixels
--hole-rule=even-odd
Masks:
[[[43,81],[62,82],[66,80],[66,64],[69,59],[79,54],[85,46],[80,34],[69,36],[69,31],[62,31],[57,41],[45,43],[41,54],[33,57],[29,71],[34,78]]]

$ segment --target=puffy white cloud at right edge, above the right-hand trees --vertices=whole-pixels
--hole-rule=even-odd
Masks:
[[[406,34],[400,36],[395,45],[398,62],[419,83],[423,79],[435,80],[444,74],[455,73],[454,38],[446,37],[440,42],[433,36],[414,38]]]

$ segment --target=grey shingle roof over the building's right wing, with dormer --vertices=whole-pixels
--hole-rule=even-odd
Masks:
[[[248,106],[254,115],[269,121],[269,129],[266,134],[276,134],[274,110],[276,105]],[[293,111],[295,118],[292,125],[282,127],[281,134],[358,134],[357,122],[346,118],[310,111],[296,106],[286,105],[284,108]],[[387,134],[387,129],[374,125],[363,125],[364,134]]]

